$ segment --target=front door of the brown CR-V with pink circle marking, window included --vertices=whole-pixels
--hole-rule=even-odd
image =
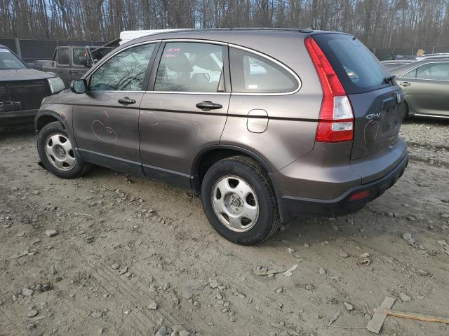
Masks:
[[[142,174],[139,106],[155,43],[126,48],[87,78],[74,102],[74,134],[81,157],[122,172]]]

